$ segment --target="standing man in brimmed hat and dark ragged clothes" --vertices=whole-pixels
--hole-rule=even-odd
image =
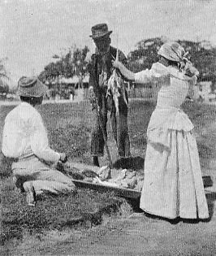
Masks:
[[[92,27],[93,42],[96,46],[95,54],[92,55],[89,64],[89,92],[93,105],[94,124],[91,138],[91,154],[93,164],[99,167],[98,157],[104,154],[105,140],[103,132],[107,137],[106,123],[107,112],[110,111],[111,125],[114,139],[118,146],[119,157],[130,157],[130,141],[127,127],[128,98],[123,97],[123,90],[119,88],[119,118],[116,118],[116,108],[112,93],[107,93],[108,80],[113,72],[112,61],[116,59],[117,49],[110,46],[111,39],[107,24],[97,24]],[[127,64],[124,54],[119,51],[119,61]],[[101,116],[100,124],[97,110]],[[102,130],[103,129],[103,130]]]

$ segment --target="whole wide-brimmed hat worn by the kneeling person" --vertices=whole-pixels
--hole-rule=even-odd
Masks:
[[[18,81],[17,94],[23,97],[43,96],[48,91],[48,87],[44,85],[37,76],[22,76]]]

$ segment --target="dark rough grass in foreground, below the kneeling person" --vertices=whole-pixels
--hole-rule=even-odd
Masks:
[[[122,202],[112,193],[97,193],[89,189],[81,189],[76,195],[43,195],[36,207],[26,205],[25,198],[15,189],[5,188],[2,195],[2,241],[12,237],[22,237],[28,232],[61,229],[100,222],[91,219],[94,213],[100,212],[106,206],[119,206]],[[99,220],[98,220],[99,219]]]

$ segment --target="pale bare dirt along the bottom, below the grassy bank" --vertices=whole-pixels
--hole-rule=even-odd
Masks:
[[[127,215],[105,219],[101,226],[88,230],[38,237],[28,237],[4,255],[215,255],[216,214],[207,223],[175,225]]]

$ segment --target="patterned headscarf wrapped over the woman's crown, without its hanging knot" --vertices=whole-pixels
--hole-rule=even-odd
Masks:
[[[185,50],[179,43],[171,41],[163,44],[158,50],[158,54],[166,59],[181,62],[184,58]]]

